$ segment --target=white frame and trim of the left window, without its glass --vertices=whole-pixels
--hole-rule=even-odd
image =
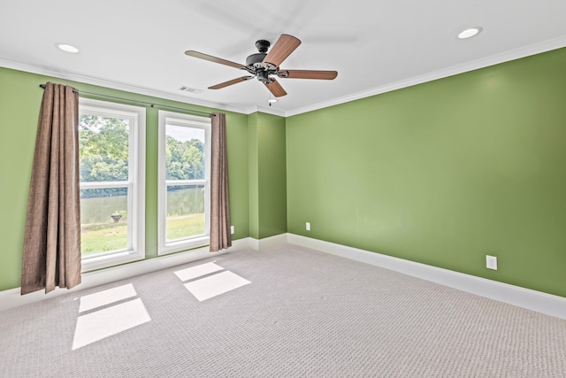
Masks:
[[[95,112],[99,115],[122,116],[133,120],[129,130],[129,155],[131,166],[128,181],[122,182],[88,182],[81,189],[96,189],[97,186],[126,186],[131,193],[128,201],[128,239],[131,245],[126,251],[82,258],[82,272],[116,266],[145,258],[145,108],[140,106],[109,103],[106,101],[80,98],[80,112]]]

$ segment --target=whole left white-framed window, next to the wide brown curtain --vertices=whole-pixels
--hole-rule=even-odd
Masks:
[[[80,98],[83,272],[142,259],[145,109]]]

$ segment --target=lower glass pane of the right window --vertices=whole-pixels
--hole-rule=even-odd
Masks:
[[[205,232],[204,185],[168,186],[165,239],[184,239]]]

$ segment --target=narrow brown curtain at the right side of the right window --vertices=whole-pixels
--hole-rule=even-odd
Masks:
[[[228,197],[226,114],[212,114],[211,140],[210,251],[216,252],[232,245],[230,198]]]

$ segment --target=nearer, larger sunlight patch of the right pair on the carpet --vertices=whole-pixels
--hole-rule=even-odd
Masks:
[[[238,289],[249,283],[251,282],[238,274],[226,271],[193,282],[187,282],[185,287],[196,299],[203,302],[203,300],[219,296],[233,289]]]

